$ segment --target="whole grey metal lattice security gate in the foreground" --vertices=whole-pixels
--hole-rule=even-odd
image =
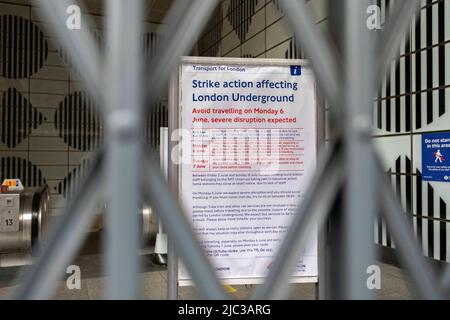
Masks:
[[[208,299],[226,299],[177,199],[160,173],[159,166],[144,156],[141,119],[144,105],[154,105],[187,54],[218,1],[177,0],[166,16],[165,37],[149,65],[140,56],[140,21],[143,0],[105,1],[107,17],[106,56],[95,49],[87,28],[69,30],[66,8],[74,1],[39,0],[39,14],[69,48],[73,63],[80,70],[84,85],[106,119],[105,147],[98,152],[92,170],[80,192],[72,197],[63,218],[49,231],[44,250],[26,275],[17,293],[20,299],[52,296],[57,280],[80,248],[94,216],[98,197],[107,198],[107,239],[105,265],[108,271],[107,298],[134,299],[139,290],[138,206],[143,199],[158,213],[170,237],[171,249],[190,272],[200,293]],[[254,294],[256,299],[286,297],[288,279],[308,238],[310,226],[324,225],[338,194],[343,197],[339,254],[342,263],[328,264],[342,270],[339,287],[331,298],[372,299],[366,286],[366,269],[375,258],[373,222],[379,204],[393,234],[397,254],[413,279],[421,298],[444,298],[450,283],[450,267],[442,279],[429,268],[413,230],[408,225],[372,147],[372,105],[376,88],[395,53],[419,0],[396,1],[384,30],[375,35],[366,27],[368,0],[342,0],[343,54],[336,54],[331,42],[313,22],[305,0],[279,0],[298,41],[310,58],[319,87],[331,105],[336,135],[319,159],[315,178],[307,191],[292,226],[280,247],[265,283]],[[336,7],[336,6],[335,6]],[[169,110],[169,113],[171,110]],[[173,190],[172,190],[173,191]],[[171,250],[169,262],[176,258]],[[175,270],[176,272],[176,270]],[[174,269],[169,268],[169,278]],[[323,282],[322,278],[320,279]],[[170,282],[170,280],[169,280]],[[176,284],[175,284],[176,285]],[[176,287],[169,285],[169,297],[176,298]]]

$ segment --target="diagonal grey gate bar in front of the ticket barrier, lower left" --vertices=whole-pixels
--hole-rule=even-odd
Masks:
[[[49,226],[43,251],[36,264],[27,270],[17,299],[49,299],[58,280],[78,253],[95,218],[95,206],[103,195],[103,151],[92,162],[89,174],[80,184],[64,215]]]

